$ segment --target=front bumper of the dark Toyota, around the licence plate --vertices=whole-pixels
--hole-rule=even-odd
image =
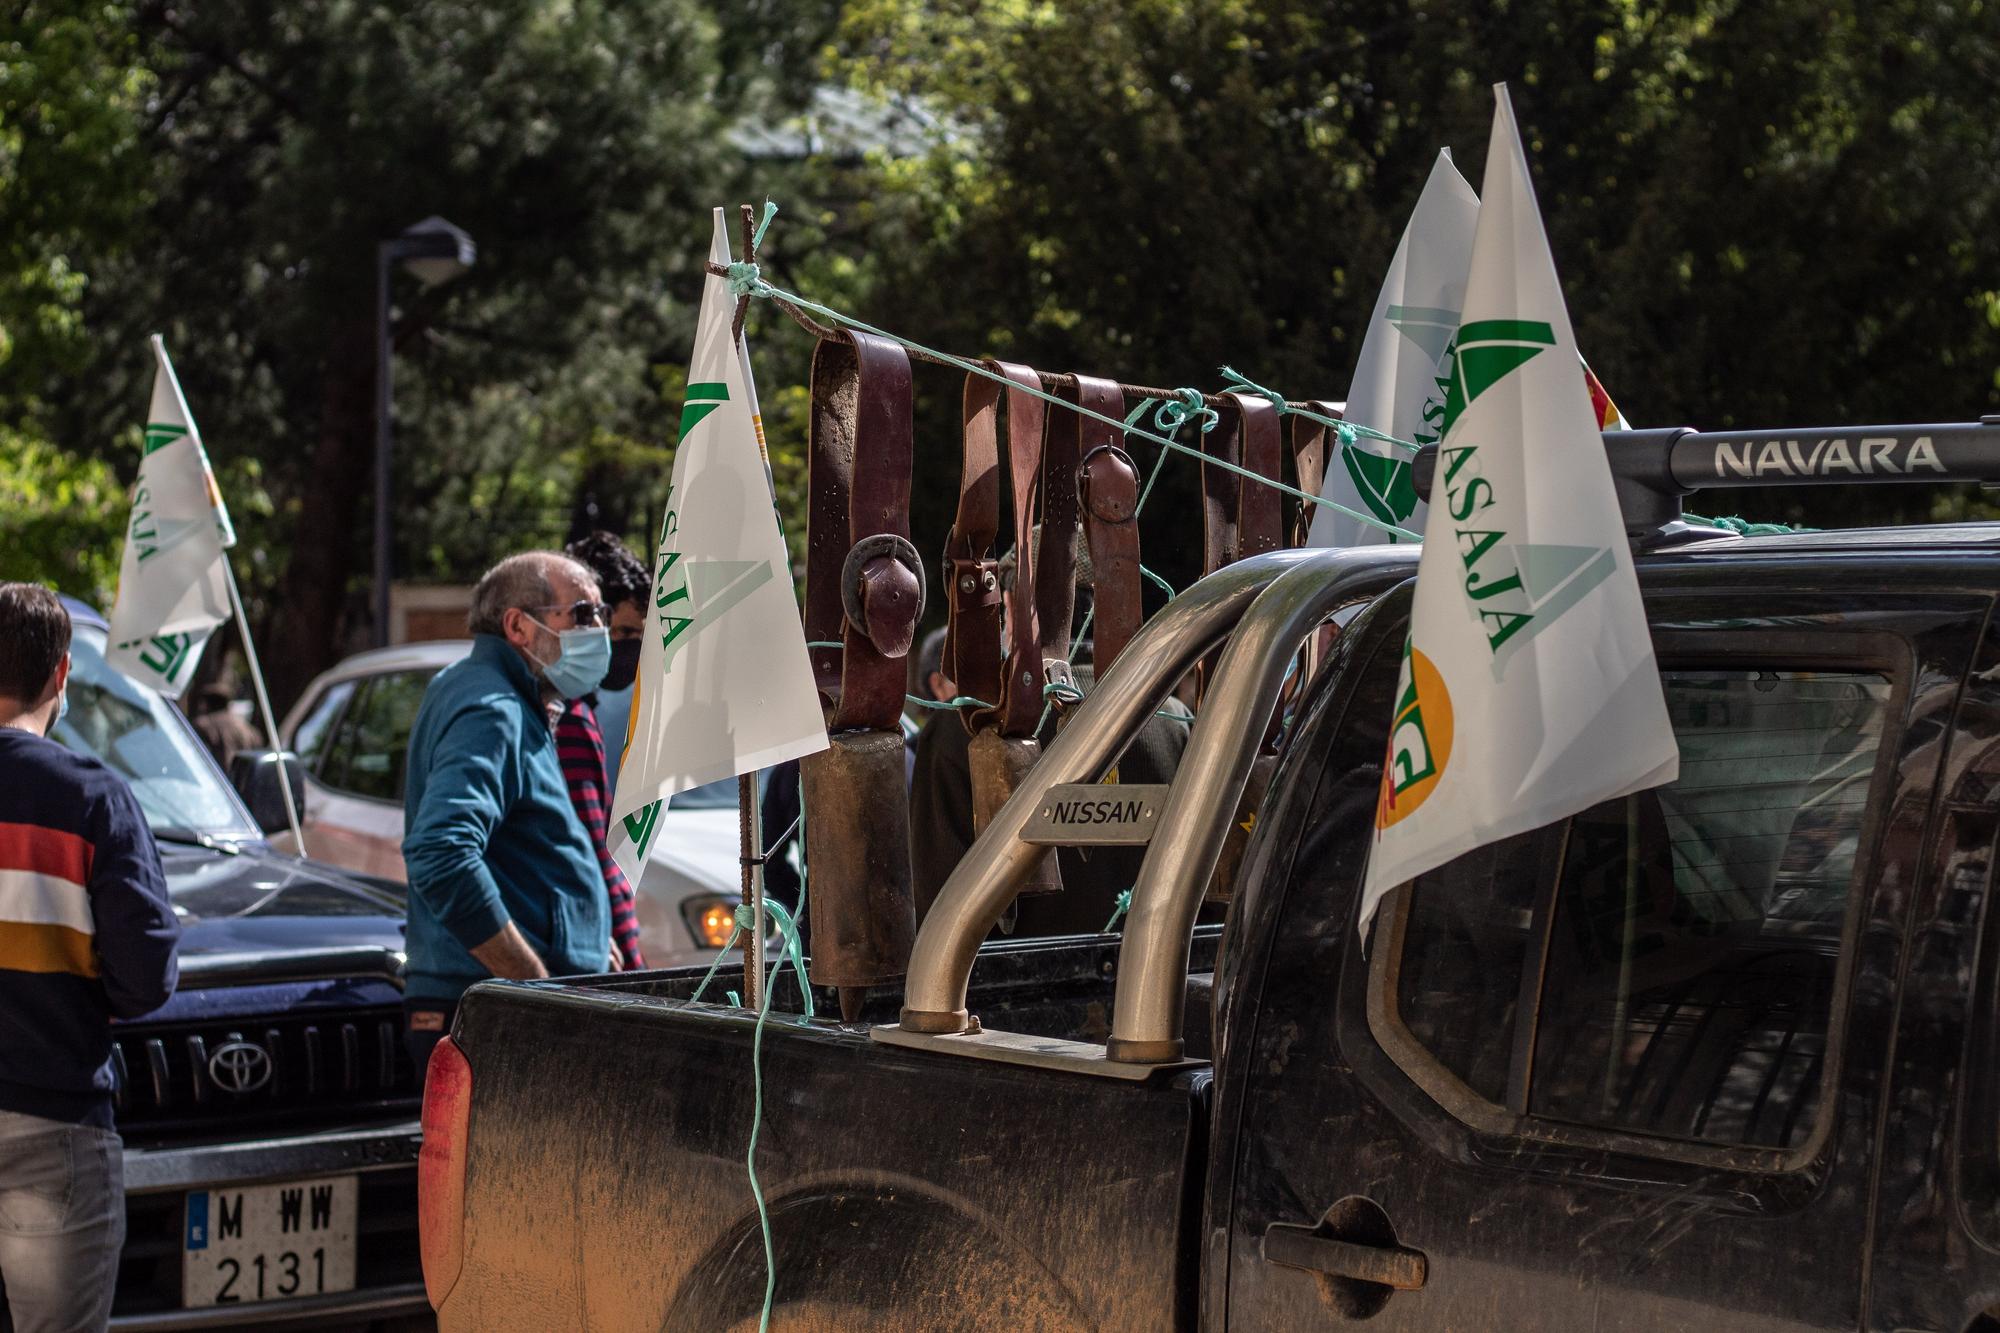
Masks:
[[[112,1329],[298,1329],[430,1311],[416,1235],[416,1121],[354,1125],[240,1143],[128,1147],[126,1247]],[[190,1189],[360,1179],[354,1291],[294,1301],[180,1309],[182,1199]]]

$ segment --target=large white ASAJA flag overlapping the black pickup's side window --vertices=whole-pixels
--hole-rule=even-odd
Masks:
[[[1384,893],[1460,853],[1680,773],[1504,86],[1496,102],[1364,929]]]

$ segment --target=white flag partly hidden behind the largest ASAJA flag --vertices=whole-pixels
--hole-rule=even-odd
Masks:
[[[1416,444],[1434,442],[1444,420],[1444,380],[1452,334],[1466,298],[1472,264],[1472,228],[1480,200],[1440,152],[1430,180],[1416,198],[1410,224],[1382,280],[1362,354],[1348,388],[1346,418],[1360,426]],[[1326,460],[1320,494],[1380,522],[1424,530],[1424,502],[1416,498],[1410,452],[1368,436]],[[1316,504],[1310,546],[1366,546],[1398,540],[1392,532]]]

